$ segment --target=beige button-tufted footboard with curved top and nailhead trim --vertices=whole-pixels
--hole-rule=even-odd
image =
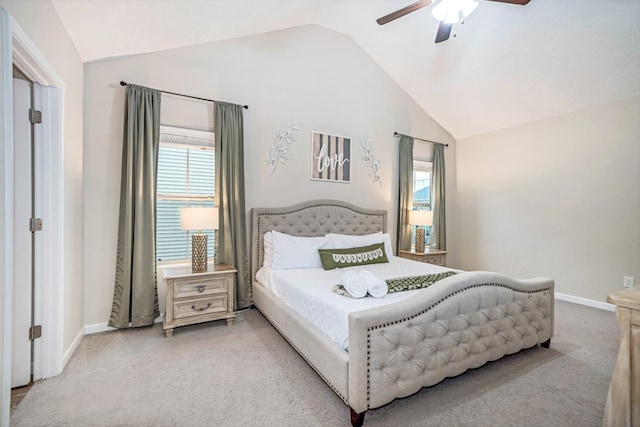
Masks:
[[[554,282],[468,272],[349,316],[349,406],[363,413],[553,336]]]

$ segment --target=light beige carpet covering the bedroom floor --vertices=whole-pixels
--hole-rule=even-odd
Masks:
[[[612,312],[556,303],[536,347],[370,410],[374,426],[600,426],[620,332]],[[349,410],[255,309],[236,323],[84,338],[12,426],[349,426]]]

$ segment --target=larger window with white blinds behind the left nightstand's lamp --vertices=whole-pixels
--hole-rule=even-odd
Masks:
[[[180,228],[180,208],[214,206],[215,147],[213,132],[160,127],[156,199],[158,261],[191,259],[192,231]],[[208,235],[213,257],[214,231]]]

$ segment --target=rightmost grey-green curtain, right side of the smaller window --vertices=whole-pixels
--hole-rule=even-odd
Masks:
[[[433,205],[433,227],[429,246],[432,248],[447,249],[447,227],[445,215],[444,197],[444,148],[443,144],[434,144],[433,147],[433,172],[431,176],[431,203]]]

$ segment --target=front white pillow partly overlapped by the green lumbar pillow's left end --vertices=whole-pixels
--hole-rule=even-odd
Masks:
[[[274,270],[288,268],[322,268],[318,249],[324,248],[326,236],[300,237],[272,231]]]

